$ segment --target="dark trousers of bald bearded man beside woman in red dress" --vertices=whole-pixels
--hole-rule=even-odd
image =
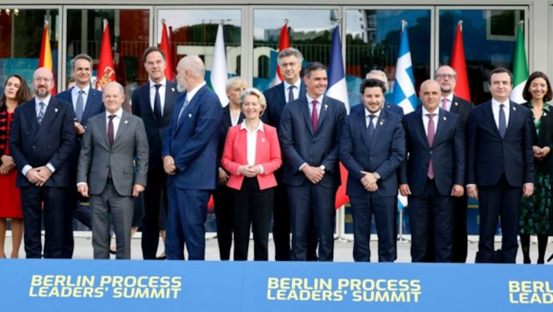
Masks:
[[[41,221],[44,214],[44,257],[62,257],[64,208],[67,188],[28,186],[20,188],[27,258],[39,258],[42,251]],[[44,204],[44,206],[43,206]]]

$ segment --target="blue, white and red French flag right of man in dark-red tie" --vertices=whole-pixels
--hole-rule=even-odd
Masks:
[[[332,32],[332,43],[330,43],[330,66],[328,68],[328,90],[326,95],[344,102],[346,110],[350,110],[348,101],[348,86],[346,86],[346,72],[344,72],[344,59],[341,55],[341,41],[339,26]],[[348,182],[348,170],[340,163],[341,185],[336,192],[336,208],[340,208],[347,202],[346,184]]]

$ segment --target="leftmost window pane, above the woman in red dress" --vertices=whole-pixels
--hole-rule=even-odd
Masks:
[[[31,86],[32,73],[39,64],[44,21],[49,22],[50,48],[52,49],[53,72],[57,73],[59,39],[59,12],[56,9],[19,9],[0,14],[0,90],[6,78],[17,74]],[[55,77],[57,79],[57,77]]]

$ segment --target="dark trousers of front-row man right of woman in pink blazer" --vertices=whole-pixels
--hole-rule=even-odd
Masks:
[[[292,261],[307,261],[310,231],[315,224],[319,260],[334,258],[335,198],[337,188],[306,182],[288,186],[292,229]]]

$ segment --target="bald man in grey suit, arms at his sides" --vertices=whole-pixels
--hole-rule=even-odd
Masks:
[[[104,86],[106,113],[89,120],[79,155],[77,189],[84,197],[90,195],[94,259],[109,259],[110,215],[117,242],[115,258],[131,259],[133,197],[144,191],[147,181],[144,123],[123,111],[124,97],[118,82]]]

